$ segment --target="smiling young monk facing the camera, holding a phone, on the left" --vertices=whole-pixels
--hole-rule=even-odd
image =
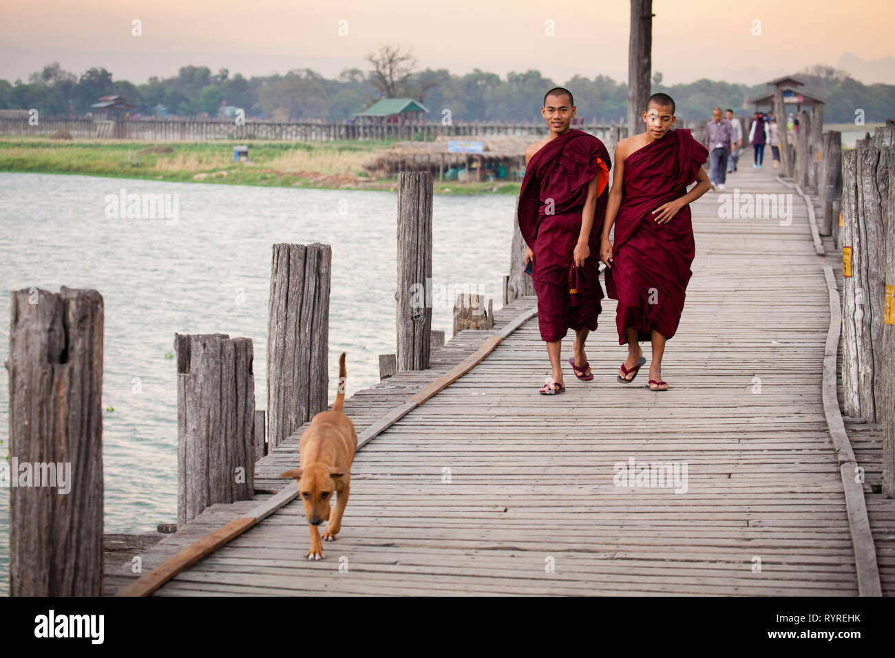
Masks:
[[[566,389],[559,351],[567,329],[575,329],[568,360],[575,377],[593,379],[584,341],[601,311],[599,248],[611,164],[603,142],[570,128],[575,101],[569,90],[548,91],[541,115],[550,132],[525,151],[518,214],[525,264],[534,261],[538,326],[552,371],[539,392],[551,395]]]

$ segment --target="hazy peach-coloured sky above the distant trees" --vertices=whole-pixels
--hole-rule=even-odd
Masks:
[[[654,0],[653,13],[652,69],[667,83],[755,83],[808,64],[836,65],[847,52],[863,60],[895,56],[892,0]],[[142,22],[140,37],[132,36],[134,19]],[[348,33],[339,36],[343,19]],[[534,68],[556,82],[574,73],[626,80],[628,20],[625,0],[556,7],[526,0],[3,0],[0,78],[27,80],[53,61],[79,74],[105,66],[134,82],[184,64],[247,76],[310,67],[334,76],[366,69],[364,56],[388,43],[411,48],[422,68],[452,73]],[[756,20],[761,36],[752,36]],[[555,36],[545,34],[547,21]]]

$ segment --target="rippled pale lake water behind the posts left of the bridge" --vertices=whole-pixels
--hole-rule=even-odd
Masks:
[[[169,194],[178,221],[109,218],[107,195]],[[350,395],[394,353],[396,193],[179,184],[0,173],[0,362],[10,291],[95,288],[105,300],[106,531],[154,530],[177,508],[174,335],[226,333],[254,344],[256,408],[266,398],[271,244],[331,244],[330,401],[347,352]],[[434,286],[501,305],[512,196],[436,196]],[[452,334],[452,297],[432,328]],[[0,457],[9,450],[9,380],[0,377]],[[107,410],[107,407],[112,410]],[[9,491],[0,487],[0,594],[8,590]]]

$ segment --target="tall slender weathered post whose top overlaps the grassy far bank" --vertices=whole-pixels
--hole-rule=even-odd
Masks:
[[[425,370],[432,330],[432,175],[401,172],[397,180],[397,370]]]

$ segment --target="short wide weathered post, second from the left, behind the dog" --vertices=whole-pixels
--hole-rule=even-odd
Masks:
[[[218,502],[254,495],[251,338],[175,334],[177,526]]]

